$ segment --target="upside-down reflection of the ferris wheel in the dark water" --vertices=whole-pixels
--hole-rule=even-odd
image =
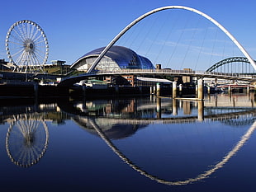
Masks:
[[[7,155],[17,166],[33,166],[45,154],[48,141],[48,127],[43,119],[33,115],[13,117],[7,130]]]

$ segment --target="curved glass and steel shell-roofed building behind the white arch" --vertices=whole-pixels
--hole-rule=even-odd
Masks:
[[[105,47],[95,49],[88,54],[84,54],[71,65],[71,68],[87,71],[104,48]],[[96,66],[97,70],[109,71],[116,71],[123,68],[154,69],[154,65],[149,59],[136,54],[135,51],[131,49],[121,46],[112,46]]]

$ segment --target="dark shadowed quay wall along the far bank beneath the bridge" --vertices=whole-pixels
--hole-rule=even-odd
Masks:
[[[7,83],[0,85],[0,99],[16,98],[102,98],[107,96],[149,96],[150,87],[113,86],[106,88],[92,87],[58,87],[56,85],[40,85],[36,82]],[[178,91],[179,95],[195,94],[194,89]],[[172,87],[161,87],[161,96],[172,96]]]

